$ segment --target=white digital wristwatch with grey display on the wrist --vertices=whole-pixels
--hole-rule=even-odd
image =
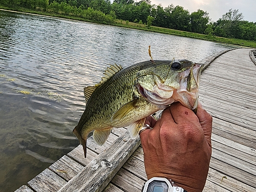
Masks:
[[[176,185],[172,180],[153,177],[143,184],[141,192],[187,192]]]

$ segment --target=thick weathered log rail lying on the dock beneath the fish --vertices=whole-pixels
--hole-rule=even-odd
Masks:
[[[133,154],[140,139],[131,139],[129,133],[118,137],[82,171],[73,177],[59,192],[63,191],[101,191],[115,176],[121,166]]]

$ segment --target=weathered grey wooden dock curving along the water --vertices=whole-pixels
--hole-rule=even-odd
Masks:
[[[213,117],[212,157],[204,191],[256,191],[256,51],[204,60],[199,100]],[[254,62],[253,62],[254,60]],[[140,140],[114,129],[103,146],[87,141],[19,191],[140,191],[146,181]]]

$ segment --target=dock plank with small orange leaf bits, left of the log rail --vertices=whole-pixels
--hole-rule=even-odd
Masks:
[[[49,169],[66,181],[69,181],[71,178],[76,176],[83,167],[83,165],[65,155],[53,163]]]

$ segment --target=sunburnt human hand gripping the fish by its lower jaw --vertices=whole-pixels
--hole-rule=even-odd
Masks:
[[[202,191],[211,157],[212,117],[199,103],[197,114],[181,103],[173,103],[153,127],[140,133],[147,179],[172,179],[189,192]]]

